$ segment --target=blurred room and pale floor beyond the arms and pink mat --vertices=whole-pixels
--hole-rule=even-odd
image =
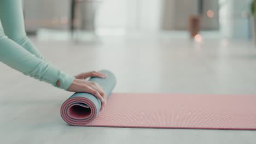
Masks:
[[[23,4],[31,40],[69,74],[109,69],[117,92],[256,93],[253,0]]]

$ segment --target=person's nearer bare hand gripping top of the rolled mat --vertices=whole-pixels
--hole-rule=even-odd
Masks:
[[[107,104],[107,96],[103,88],[96,82],[74,79],[71,86],[68,88],[69,92],[85,92],[91,93],[101,101],[101,110]]]

